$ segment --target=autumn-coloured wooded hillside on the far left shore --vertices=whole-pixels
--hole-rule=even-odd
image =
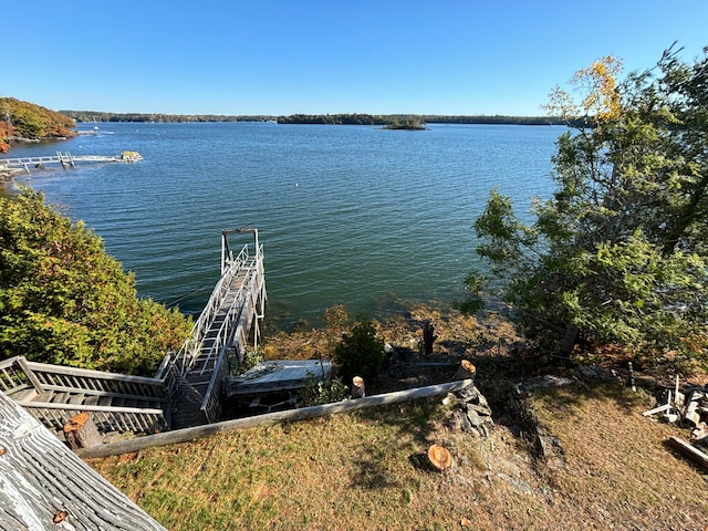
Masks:
[[[72,136],[74,119],[33,103],[0,97],[0,153],[15,138],[45,139]]]

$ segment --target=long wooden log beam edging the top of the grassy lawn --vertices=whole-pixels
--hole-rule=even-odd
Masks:
[[[258,415],[254,417],[237,418],[233,420],[225,420],[222,423],[208,424],[206,426],[176,429],[174,431],[166,431],[164,434],[148,435],[146,437],[138,437],[135,439],[101,445],[93,448],[80,449],[76,450],[76,454],[80,457],[84,458],[117,456],[119,454],[137,451],[153,446],[186,442],[188,440],[218,434],[220,431],[247,429],[261,425],[303,420],[305,418],[323,417],[326,415],[347,413],[367,407],[386,406],[389,404],[398,404],[400,402],[429,398],[431,396],[455,393],[470,385],[473,385],[472,379],[461,379],[449,382],[446,384],[429,385],[427,387],[416,387],[414,389],[398,391],[385,395],[367,396],[365,398],[357,398],[356,400],[335,402],[333,404],[325,404],[322,406],[311,406],[300,409],[290,409],[287,412],[268,413],[266,415]]]

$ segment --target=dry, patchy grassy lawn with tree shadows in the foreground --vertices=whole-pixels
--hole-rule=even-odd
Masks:
[[[440,397],[441,398],[441,397]],[[647,395],[601,387],[534,397],[561,468],[513,427],[445,427],[440,399],[253,428],[90,460],[170,530],[704,530],[708,482],[642,417]],[[428,445],[455,458],[426,466]]]

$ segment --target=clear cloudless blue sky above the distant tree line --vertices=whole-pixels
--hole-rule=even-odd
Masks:
[[[32,0],[0,20],[0,96],[116,113],[543,115],[594,59],[708,45],[706,0]]]

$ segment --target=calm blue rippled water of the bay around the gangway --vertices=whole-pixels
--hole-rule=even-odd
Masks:
[[[93,124],[92,124],[93,125]],[[87,126],[86,126],[87,127]],[[562,127],[98,124],[95,136],[10,156],[114,155],[138,164],[44,170],[19,179],[100,235],[142,295],[199,312],[219,274],[220,235],[248,223],[266,252],[267,314],[313,321],[462,296],[472,223],[498,187],[521,214],[551,192]],[[246,241],[246,240],[244,240]],[[235,242],[238,242],[236,240]],[[240,247],[232,246],[232,247]]]

